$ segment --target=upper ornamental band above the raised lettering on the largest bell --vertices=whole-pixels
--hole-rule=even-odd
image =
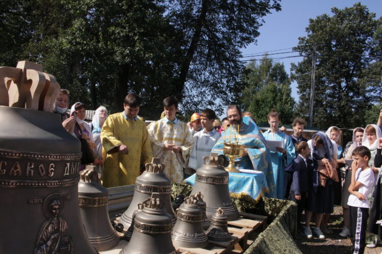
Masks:
[[[49,160],[49,161],[73,161],[80,160],[82,153],[40,153],[40,152],[20,152],[12,150],[1,150],[0,157],[6,158],[29,158],[32,160]]]

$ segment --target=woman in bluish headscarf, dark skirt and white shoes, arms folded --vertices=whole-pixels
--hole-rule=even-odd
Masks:
[[[320,230],[324,213],[332,213],[334,206],[333,181],[338,181],[336,171],[337,161],[333,143],[323,132],[318,132],[308,141],[311,148],[312,161],[309,170],[310,191],[306,208],[306,224],[304,233],[312,238],[310,221],[312,214],[316,214],[316,227],[313,232],[320,238],[325,236]],[[309,166],[308,166],[309,168]]]

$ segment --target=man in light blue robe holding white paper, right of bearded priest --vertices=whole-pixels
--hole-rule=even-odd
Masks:
[[[275,177],[276,198],[283,199],[284,169],[295,158],[294,145],[288,135],[279,130],[280,116],[275,110],[268,114],[269,130],[264,132],[264,137],[269,145],[271,164]]]

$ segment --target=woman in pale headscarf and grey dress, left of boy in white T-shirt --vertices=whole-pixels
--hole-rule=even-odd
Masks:
[[[346,147],[343,151],[344,157],[340,159],[341,163],[345,164],[345,160],[351,160],[351,158],[352,158],[351,154],[353,153],[353,150],[362,145],[363,135],[364,135],[364,129],[363,128],[360,128],[360,127],[354,128],[352,141],[349,141],[346,144]],[[343,225],[344,226],[343,226],[342,232],[340,233],[340,236],[347,237],[350,234],[350,231],[349,231],[349,227],[350,227],[350,225],[349,225],[349,206],[347,205],[347,200],[350,196],[348,188],[349,188],[350,183],[351,183],[351,171],[350,171],[350,167],[347,166],[346,164],[345,164],[344,170],[345,170],[345,173],[344,173],[345,174],[345,177],[344,177],[345,181],[344,181],[343,187],[342,187],[342,198],[341,198],[341,206],[342,206],[342,210],[343,210]]]

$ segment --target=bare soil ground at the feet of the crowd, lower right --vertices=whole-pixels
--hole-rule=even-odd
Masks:
[[[314,217],[314,216],[313,216]],[[326,234],[326,239],[319,238],[301,238],[296,239],[298,248],[304,254],[343,254],[350,253],[351,242],[349,237],[341,237],[338,234],[341,233],[343,227],[342,207],[335,206],[334,213],[331,216],[329,228],[333,230],[333,234]],[[313,224],[311,227],[314,227]]]

